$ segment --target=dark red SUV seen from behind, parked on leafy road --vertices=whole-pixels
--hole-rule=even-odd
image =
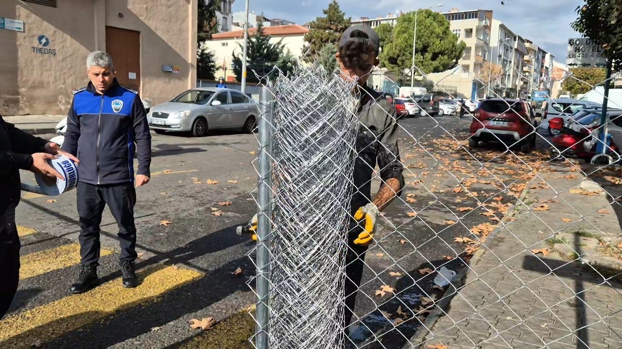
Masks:
[[[475,148],[480,141],[501,141],[520,145],[529,153],[536,145],[536,120],[527,101],[516,99],[485,99],[473,114],[468,145]]]

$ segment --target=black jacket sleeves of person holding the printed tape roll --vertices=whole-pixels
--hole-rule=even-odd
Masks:
[[[30,170],[33,153],[43,152],[47,140],[27,134],[15,125],[4,122],[12,150],[0,150],[0,176],[11,174],[16,168]]]

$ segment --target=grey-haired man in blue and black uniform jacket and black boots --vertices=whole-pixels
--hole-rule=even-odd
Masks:
[[[141,98],[120,86],[108,53],[97,51],[86,60],[90,83],[73,93],[63,150],[78,156],[78,215],[80,215],[80,274],[70,292],[96,286],[100,258],[100,222],[104,205],[119,225],[123,286],[134,288],[136,191],[149,182],[151,134]],[[134,179],[134,152],[138,171]]]

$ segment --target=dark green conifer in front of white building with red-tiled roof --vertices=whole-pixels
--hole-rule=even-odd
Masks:
[[[257,24],[257,32],[248,39],[248,52],[246,54],[246,81],[249,83],[258,83],[260,78],[273,78],[277,75],[274,67],[281,69],[284,73],[292,71],[297,65],[296,58],[289,52],[284,52],[284,45],[281,41],[277,43],[270,42],[271,36],[263,34],[263,25],[261,22]],[[240,51],[243,52],[244,47],[239,44]],[[242,79],[242,53],[233,55],[233,73],[236,79]]]

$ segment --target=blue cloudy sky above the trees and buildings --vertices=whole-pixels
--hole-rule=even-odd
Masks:
[[[331,0],[250,0],[251,11],[264,12],[268,18],[281,18],[304,24],[315,17],[323,16],[322,9]],[[436,2],[439,1],[439,2]],[[532,40],[555,55],[558,61],[565,61],[568,39],[580,37],[570,23],[577,17],[575,9],[582,0],[338,0],[341,11],[346,16],[358,17],[386,16],[396,11],[412,11],[442,3],[440,11],[452,7],[460,10],[490,9],[493,17],[504,22],[510,30],[525,39]],[[486,4],[486,6],[484,6]],[[233,11],[244,11],[244,0],[236,0]]]

